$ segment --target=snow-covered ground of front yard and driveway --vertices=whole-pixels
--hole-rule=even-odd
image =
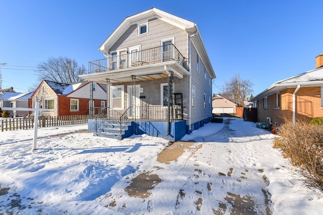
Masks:
[[[0,214],[321,214],[322,193],[253,122],[225,118],[173,145],[86,128],[38,129],[35,151],[33,130],[0,132]]]

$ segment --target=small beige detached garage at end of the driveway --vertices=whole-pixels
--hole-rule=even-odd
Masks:
[[[236,113],[236,107],[237,104],[222,96],[217,95],[212,98],[212,113]]]

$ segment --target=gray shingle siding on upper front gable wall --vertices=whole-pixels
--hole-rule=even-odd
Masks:
[[[109,51],[129,48],[141,45],[141,50],[160,46],[160,41],[175,38],[175,46],[187,58],[188,57],[188,35],[183,29],[173,26],[159,19],[148,21],[148,33],[137,35],[137,24],[132,25],[112,45]]]

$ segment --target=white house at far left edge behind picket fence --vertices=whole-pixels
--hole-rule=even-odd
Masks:
[[[0,107],[13,107],[13,108],[28,108],[28,99],[34,92],[27,93],[14,93],[14,92],[0,92]],[[11,116],[26,116],[28,111],[11,110]]]

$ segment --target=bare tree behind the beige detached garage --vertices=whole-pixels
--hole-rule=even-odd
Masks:
[[[253,83],[250,80],[241,80],[238,74],[237,77],[233,77],[225,83],[220,95],[241,107],[244,105],[245,99],[253,92],[252,86]]]

